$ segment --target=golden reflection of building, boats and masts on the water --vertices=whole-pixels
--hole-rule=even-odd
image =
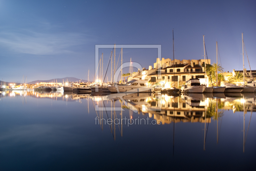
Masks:
[[[22,91],[22,90],[7,90],[0,92],[0,100],[3,101],[6,97],[22,97],[22,103],[26,102],[27,98],[46,98],[51,100],[61,101],[76,101],[83,103],[83,99],[86,99],[85,106],[89,103],[93,105],[95,111],[95,117],[98,120],[101,119],[118,119],[128,117],[129,119],[135,118],[137,114],[148,117],[150,120],[156,120],[164,124],[173,123],[173,135],[175,133],[175,123],[202,123],[203,128],[203,141],[204,149],[207,144],[207,134],[210,134],[207,130],[212,128],[209,125],[214,125],[217,131],[217,143],[219,142],[220,128],[222,118],[225,111],[232,111],[232,113],[243,112],[244,117],[247,113],[250,113],[250,120],[244,122],[243,131],[243,150],[245,146],[245,139],[250,127],[252,113],[256,112],[255,106],[255,94],[253,93],[187,93],[183,95],[179,94],[161,94],[161,93],[105,93],[105,92],[94,92],[94,93],[79,93],[77,91],[63,91],[63,90],[52,90],[52,91]],[[90,100],[91,99],[91,100]],[[25,103],[24,103],[25,104]],[[129,112],[128,112],[129,111]],[[86,109],[87,112],[87,109]],[[216,125],[217,123],[217,125]],[[223,124],[223,123],[222,123]],[[120,127],[119,127],[120,126]],[[127,125],[126,125],[127,126]],[[185,125],[184,125],[185,126]],[[103,130],[104,124],[100,123],[100,128]],[[120,135],[123,136],[123,123],[116,125],[112,123],[109,128],[116,140],[116,127],[120,129]],[[247,128],[247,131],[246,131]],[[223,128],[222,128],[223,129]],[[202,130],[197,130],[202,131]],[[253,131],[252,131],[253,133]],[[222,137],[223,138],[223,137]],[[174,139],[174,137],[173,137]]]

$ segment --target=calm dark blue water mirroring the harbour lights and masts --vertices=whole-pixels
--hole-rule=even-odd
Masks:
[[[254,94],[0,91],[0,111],[0,170],[256,168]]]

